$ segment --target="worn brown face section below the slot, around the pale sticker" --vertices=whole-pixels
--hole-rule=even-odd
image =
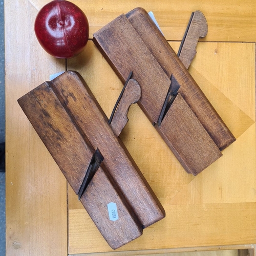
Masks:
[[[92,178],[80,201],[113,249],[142,235],[142,224],[103,164]],[[111,202],[117,205],[116,221],[109,218],[107,205]]]

